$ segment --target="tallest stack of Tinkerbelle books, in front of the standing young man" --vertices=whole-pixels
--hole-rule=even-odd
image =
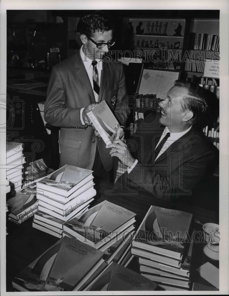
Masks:
[[[33,227],[62,235],[62,225],[76,214],[83,213],[94,200],[93,171],[64,165],[36,182],[38,210]]]

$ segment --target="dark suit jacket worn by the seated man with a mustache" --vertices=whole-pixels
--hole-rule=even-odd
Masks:
[[[202,180],[212,164],[215,147],[192,127],[154,161],[155,147],[165,129],[162,125],[153,127],[150,123],[154,120],[154,115],[147,116],[132,137],[138,147],[133,153],[138,164],[128,178],[140,189],[162,200],[190,197],[191,189]]]

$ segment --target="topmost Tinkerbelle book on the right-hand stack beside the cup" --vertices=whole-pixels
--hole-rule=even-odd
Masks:
[[[190,213],[151,206],[132,247],[181,260],[191,220]]]

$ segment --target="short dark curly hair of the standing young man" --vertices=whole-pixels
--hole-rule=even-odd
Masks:
[[[88,12],[80,18],[77,26],[80,34],[92,37],[95,31],[105,32],[114,30],[114,24],[111,19],[101,11]]]

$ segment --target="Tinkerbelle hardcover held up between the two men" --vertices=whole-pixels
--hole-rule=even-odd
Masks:
[[[104,142],[109,145],[124,135],[123,128],[118,123],[106,101],[101,101],[87,113],[93,127],[99,132]]]

